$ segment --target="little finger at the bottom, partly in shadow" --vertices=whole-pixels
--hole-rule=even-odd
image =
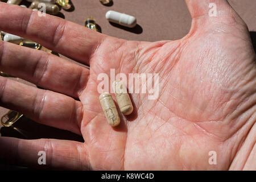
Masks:
[[[89,169],[84,143],[57,139],[0,137],[0,162],[44,169]]]

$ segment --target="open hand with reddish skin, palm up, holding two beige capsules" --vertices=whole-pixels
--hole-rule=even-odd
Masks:
[[[5,150],[0,150],[0,158],[41,167],[38,152],[46,151],[46,166],[64,169],[249,167],[236,157],[249,158],[250,151],[240,154],[242,143],[248,136],[256,138],[255,53],[246,25],[232,7],[224,0],[213,2],[217,17],[208,15],[210,1],[187,0],[193,18],[189,34],[154,43],[112,38],[0,3],[1,30],[90,65],[87,69],[43,51],[0,42],[1,71],[52,90],[1,77],[1,105],[85,140],[1,137]],[[147,94],[131,94],[134,112],[120,115],[121,124],[114,128],[106,122],[97,91],[97,76],[110,75],[110,69],[127,76],[159,73],[159,97],[148,100]],[[216,165],[209,164],[210,151],[217,154]]]

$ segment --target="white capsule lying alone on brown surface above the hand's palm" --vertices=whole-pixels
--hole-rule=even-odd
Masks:
[[[117,11],[108,11],[106,13],[106,19],[109,20],[109,22],[118,23],[122,26],[133,28],[137,24],[137,20],[134,16],[127,15],[124,13],[119,13]]]

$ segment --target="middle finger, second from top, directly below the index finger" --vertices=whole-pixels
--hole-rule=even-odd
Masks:
[[[79,97],[89,69],[35,49],[0,41],[0,69],[35,85]]]

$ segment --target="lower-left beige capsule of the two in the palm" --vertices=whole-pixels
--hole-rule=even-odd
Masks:
[[[100,95],[99,99],[101,102],[101,108],[104,111],[109,125],[118,126],[120,123],[120,118],[112,96],[108,92],[104,92]]]

